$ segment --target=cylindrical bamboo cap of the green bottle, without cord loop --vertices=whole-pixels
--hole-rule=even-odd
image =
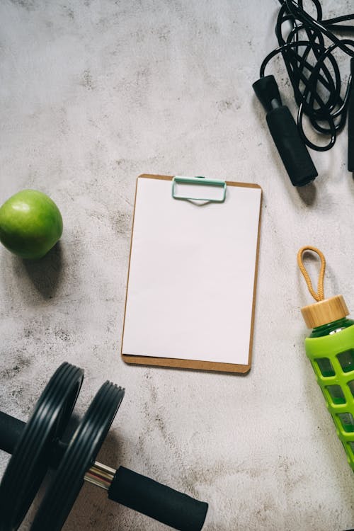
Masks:
[[[301,313],[309,329],[343,319],[343,317],[349,315],[343,295],[336,295],[330,299],[324,299],[304,306],[301,309]]]

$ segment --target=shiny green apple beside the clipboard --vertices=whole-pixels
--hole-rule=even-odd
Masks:
[[[63,231],[55,202],[38,190],[21,190],[0,207],[0,241],[22,258],[42,258]]]

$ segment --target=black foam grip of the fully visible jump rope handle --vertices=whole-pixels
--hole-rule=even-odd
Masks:
[[[271,110],[267,123],[292,184],[304,186],[313,181],[318,173],[290,110],[285,105]]]

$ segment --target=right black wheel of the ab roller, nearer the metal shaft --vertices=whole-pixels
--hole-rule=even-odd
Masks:
[[[31,531],[59,531],[110,429],[124,389],[105,382],[82,418],[40,504]]]

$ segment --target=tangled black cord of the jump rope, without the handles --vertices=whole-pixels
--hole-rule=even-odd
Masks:
[[[316,19],[304,11],[302,0],[298,3],[279,0],[281,7],[275,25],[279,47],[263,60],[260,77],[265,75],[270,59],[281,53],[298,105],[299,135],[308,147],[321,152],[333,147],[337,132],[346,123],[352,86],[352,76],[349,75],[345,94],[341,96],[341,74],[333,51],[339,48],[354,57],[354,40],[339,39],[331,30],[354,32],[354,25],[338,24],[354,20],[354,13],[324,21],[319,0],[310,1],[316,8]],[[290,23],[292,27],[286,40],[282,36],[285,23]],[[332,42],[331,45],[326,45],[325,37]],[[311,60],[314,64],[309,62]],[[309,118],[314,130],[331,137],[328,144],[319,146],[309,140],[302,125],[304,115]]]

